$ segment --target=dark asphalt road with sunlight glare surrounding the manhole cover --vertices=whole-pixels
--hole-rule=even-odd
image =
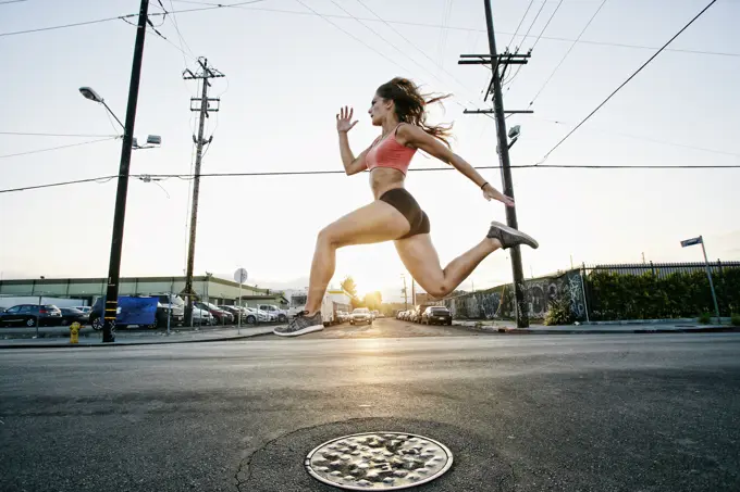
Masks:
[[[739,333],[317,337],[2,351],[0,490],[331,491],[359,431],[446,444],[419,491],[740,490]]]

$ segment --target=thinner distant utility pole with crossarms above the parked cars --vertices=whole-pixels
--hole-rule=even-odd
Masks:
[[[198,225],[198,194],[200,192],[200,162],[203,156],[203,144],[206,143],[211,143],[213,140],[213,136],[211,136],[208,140],[203,139],[203,127],[206,125],[206,118],[209,117],[208,113],[211,111],[219,111],[220,109],[220,99],[219,98],[209,98],[208,97],[208,88],[211,87],[211,83],[208,81],[209,78],[219,78],[223,77],[224,75],[217,71],[215,68],[208,66],[208,59],[205,58],[199,58],[198,59],[198,64],[200,65],[200,68],[198,70],[197,73],[190,72],[188,68],[186,68],[183,72],[183,78],[185,80],[195,80],[195,79],[201,79],[202,80],[202,93],[200,98],[190,98],[190,111],[198,111],[200,112],[200,118],[198,123],[198,137],[196,139],[195,135],[193,136],[193,141],[196,144],[196,154],[195,154],[195,177],[194,177],[194,182],[193,182],[193,210],[190,212],[190,242],[187,248],[187,273],[185,274],[185,289],[183,290],[183,294],[187,297],[187,304],[185,306],[185,324],[186,326],[192,326],[193,323],[193,301],[196,295],[195,291],[193,290],[193,264],[195,263],[195,232],[196,228]],[[194,108],[194,102],[196,102],[195,108]],[[215,105],[214,108],[211,108],[211,102],[214,102]]]

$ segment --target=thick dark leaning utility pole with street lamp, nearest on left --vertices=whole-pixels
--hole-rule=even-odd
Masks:
[[[128,193],[128,169],[131,167],[131,150],[134,144],[134,123],[136,122],[136,103],[138,86],[141,77],[141,59],[144,56],[144,37],[147,33],[147,12],[149,0],[141,0],[139,18],[134,45],[134,62],[131,67],[128,84],[128,105],[126,106],[126,124],[123,128],[121,146],[121,164],[119,165],[119,185],[115,191],[115,212],[113,213],[113,234],[111,236],[111,256],[108,265],[108,288],[106,289],[106,306],[102,325],[102,342],[115,341],[115,315],[119,310],[119,282],[121,279],[121,250],[123,249],[123,226],[126,218],[126,194]]]

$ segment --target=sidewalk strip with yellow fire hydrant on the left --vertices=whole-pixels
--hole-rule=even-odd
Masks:
[[[275,325],[279,326],[279,325]],[[0,339],[0,349],[47,349],[47,348],[96,348],[120,345],[152,345],[164,343],[202,343],[220,342],[226,340],[240,340],[260,335],[272,333],[275,326],[208,328],[200,330],[178,329],[170,335],[162,331],[116,331],[115,341],[102,343],[102,332],[94,331],[79,337],[76,344],[70,343],[70,337],[44,337],[44,338],[16,338]],[[0,336],[2,332],[0,331]]]

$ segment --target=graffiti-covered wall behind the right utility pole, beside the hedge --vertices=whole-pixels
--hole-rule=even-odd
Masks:
[[[525,281],[525,299],[532,319],[544,319],[550,306],[563,297],[570,300],[570,310],[578,319],[585,318],[585,299],[580,270]],[[443,301],[456,319],[514,318],[516,313],[514,286],[498,286]]]

